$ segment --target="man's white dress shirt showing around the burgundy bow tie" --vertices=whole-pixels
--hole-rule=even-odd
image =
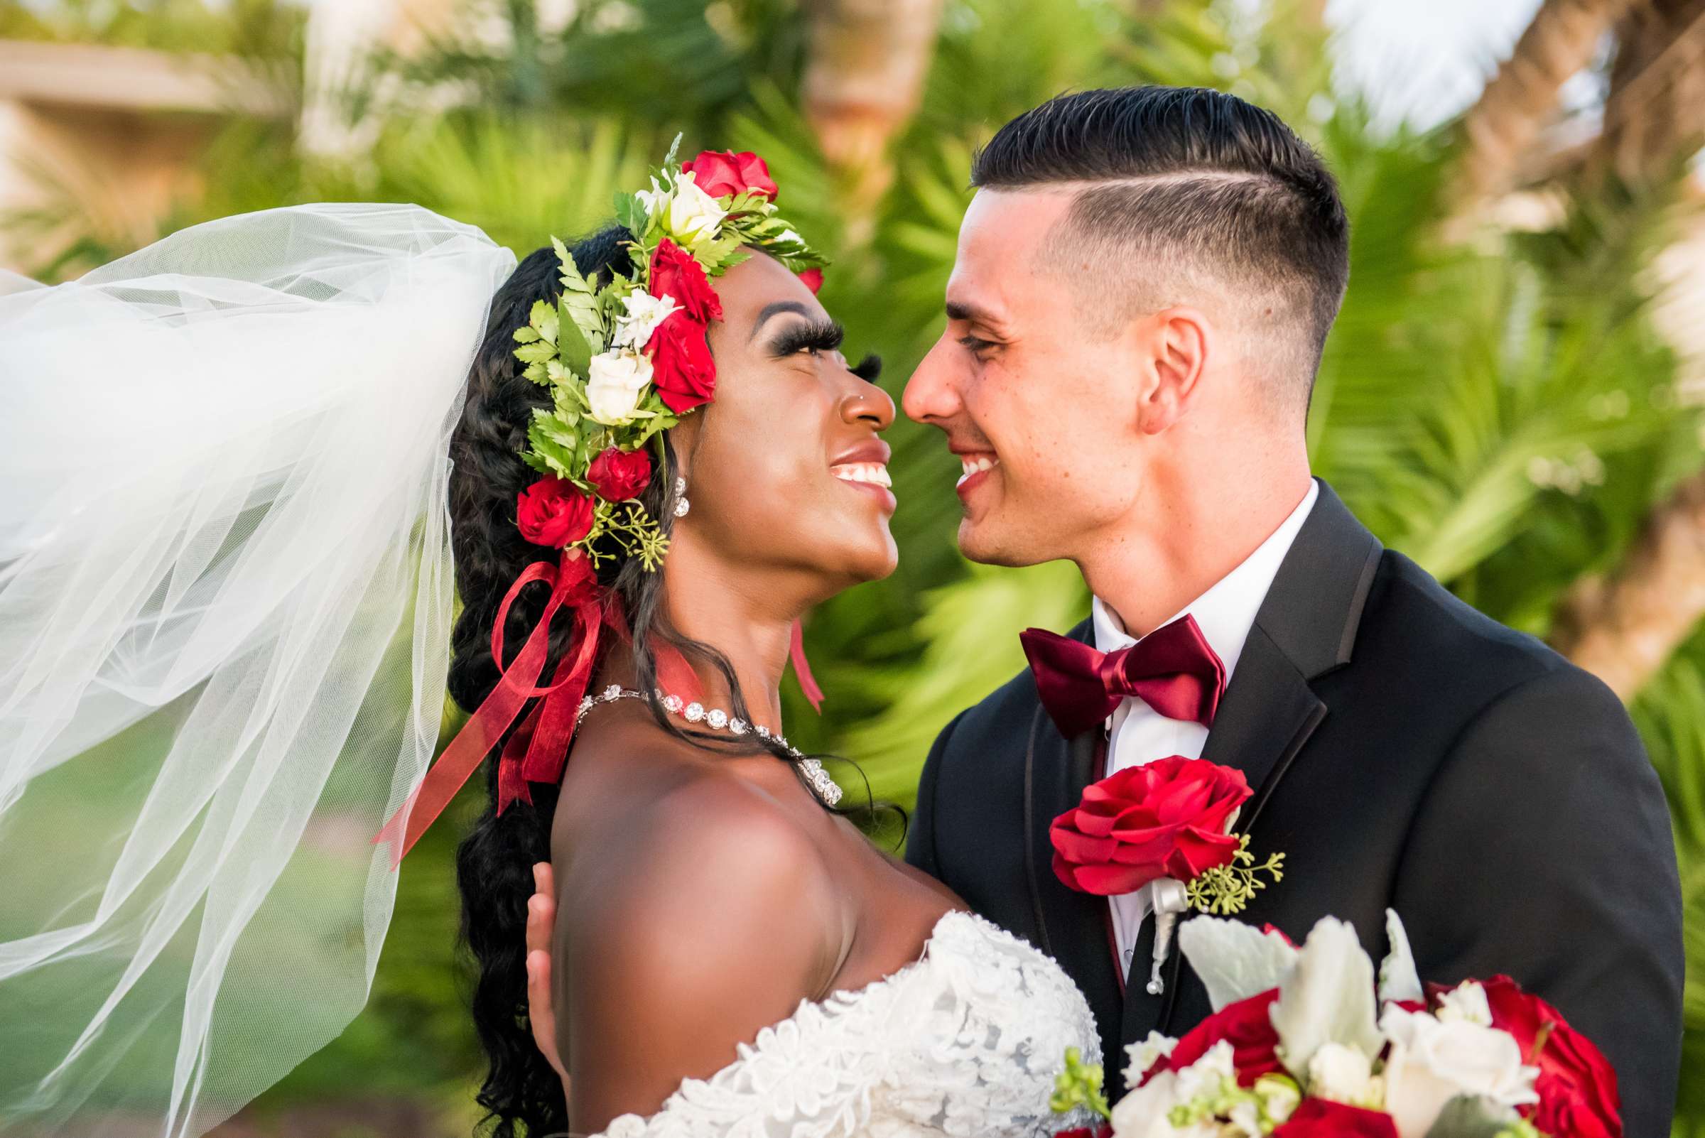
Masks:
[[[1168,625],[1185,613],[1195,617],[1209,646],[1226,664],[1226,683],[1238,668],[1238,656],[1255,627],[1255,613],[1267,598],[1279,566],[1284,562],[1298,530],[1308,520],[1308,511],[1320,497],[1320,484],[1309,479],[1308,494],[1298,503],[1291,516],[1279,523],[1279,528],[1265,542],[1255,547],[1243,562],[1214,583],[1205,593],[1185,605]],[[1115,613],[1100,596],[1089,601],[1089,613],[1095,624],[1095,646],[1103,652],[1136,644]],[[1207,727],[1192,721],[1168,719],[1144,700],[1127,697],[1107,719],[1107,773],[1117,773],[1127,767],[1141,767],[1168,755],[1200,758],[1207,743]],[[1153,908],[1151,886],[1136,893],[1122,893],[1108,898],[1113,906],[1113,937],[1118,942],[1118,959],[1125,974],[1130,973],[1130,956],[1142,932],[1142,922]]]

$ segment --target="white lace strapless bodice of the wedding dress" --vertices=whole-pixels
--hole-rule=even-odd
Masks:
[[[1054,1114],[1066,1048],[1100,1061],[1083,993],[1050,957],[972,913],[936,922],[900,971],[740,1044],[708,1080],[689,1078],[650,1119],[605,1138],[1003,1138],[1088,1124]]]

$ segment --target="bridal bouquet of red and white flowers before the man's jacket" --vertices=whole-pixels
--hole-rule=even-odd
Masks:
[[[1072,1049],[1052,1101],[1108,1124],[1078,1138],[1620,1138],[1616,1075],[1586,1036],[1507,976],[1422,988],[1386,911],[1374,976],[1333,918],[1303,947],[1197,917],[1178,934],[1214,1014],[1182,1039],[1127,1048],[1130,1094],[1108,1109]]]

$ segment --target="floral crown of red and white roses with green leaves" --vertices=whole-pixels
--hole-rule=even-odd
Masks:
[[[675,145],[651,189],[616,196],[633,274],[593,288],[556,237],[563,295],[534,303],[515,329],[523,375],[551,390],[535,407],[522,462],[542,475],[517,499],[535,545],[583,549],[592,566],[639,557],[656,569],[668,538],[638,501],[651,482],[648,445],[663,467],[662,433],[716,395],[706,332],[723,317],[711,278],[757,247],[817,291],[827,264],[776,213],[776,182],[755,153],[704,150],[675,165]]]

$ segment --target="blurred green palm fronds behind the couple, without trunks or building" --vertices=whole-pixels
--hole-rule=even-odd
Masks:
[[[471,7],[462,32],[387,61],[394,78],[370,92],[382,126],[363,160],[307,162],[288,128],[235,124],[206,160],[220,177],[162,228],[286,201],[402,199],[525,254],[609,216],[616,193],[643,184],[684,129],[689,152],[750,148],[769,160],[789,220],[837,254],[822,300],[847,325],[849,354],[878,351],[899,394],[939,330],[970,153],[999,123],[1066,89],[1212,85],[1275,109],[1340,175],[1354,223],[1350,291],[1321,365],[1309,446],[1316,470],[1390,547],[1499,620],[1548,635],[1569,591],[1613,571],[1647,513],[1702,467],[1700,411],[1642,291],[1673,203],[1596,193],[1567,201],[1543,228],[1448,242],[1458,133],[1374,129],[1366,106],[1333,90],[1325,34],[1306,10],[1277,0],[1159,14],[1113,0],[951,0],[917,112],[883,158],[892,179],[871,201],[861,196],[868,179],[824,158],[801,111],[806,5],[588,0],[554,24],[530,0]],[[239,5],[234,19],[251,10],[261,9]],[[447,102],[442,114],[404,112]],[[99,216],[84,232],[102,232]],[[49,249],[41,261],[70,273],[113,252]],[[789,692],[788,727],[907,804],[934,733],[1020,668],[1013,632],[1066,629],[1086,596],[1071,566],[960,559],[957,462],[916,424],[902,421],[890,441],[900,569],[815,613],[806,639],[829,704],[817,719]],[[1705,637],[1676,652],[1633,714],[1671,796],[1690,928],[1688,1063],[1705,1072]],[[465,1080],[471,1041],[443,969],[448,850],[428,836],[404,872],[368,1014],[275,1101],[329,1090],[351,1072],[377,1077],[392,1049],[413,1056],[404,1063],[419,1078]],[[1705,1133],[1698,1082],[1683,1080],[1678,1133]]]

